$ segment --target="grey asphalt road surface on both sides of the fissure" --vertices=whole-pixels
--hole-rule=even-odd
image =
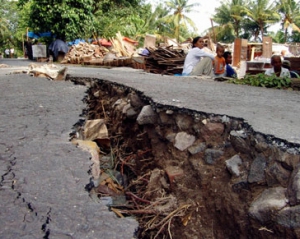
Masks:
[[[0,238],[133,238],[137,222],[118,219],[84,190],[89,155],[69,142],[86,86],[26,74],[31,61],[1,59]],[[233,85],[132,68],[68,66],[72,77],[123,84],[154,102],[242,118],[256,132],[300,147],[300,92]]]

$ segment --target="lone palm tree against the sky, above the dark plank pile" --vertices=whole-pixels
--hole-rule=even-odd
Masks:
[[[163,17],[161,20],[174,24],[174,36],[179,42],[179,33],[181,27],[191,26],[197,30],[195,23],[187,16],[188,13],[197,12],[195,8],[199,3],[189,3],[189,0],[169,0],[166,5],[170,9],[171,14]]]

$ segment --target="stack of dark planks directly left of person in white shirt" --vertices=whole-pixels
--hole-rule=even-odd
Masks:
[[[186,54],[182,49],[172,46],[147,48],[149,55],[145,57],[147,72],[163,75],[181,74]]]

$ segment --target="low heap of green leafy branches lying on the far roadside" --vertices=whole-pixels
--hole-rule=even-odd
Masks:
[[[246,74],[243,79],[232,79],[228,82],[277,89],[288,88],[291,86],[291,79],[288,77],[276,77],[275,75],[268,76],[264,73],[259,73],[257,75]]]

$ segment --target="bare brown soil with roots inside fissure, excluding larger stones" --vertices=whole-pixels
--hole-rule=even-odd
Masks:
[[[266,146],[268,140],[242,119],[222,122],[220,116],[156,105],[133,89],[91,82],[85,115],[88,120],[105,119],[110,142],[97,141],[105,156],[101,168],[107,172],[104,159],[113,158],[110,170],[118,172],[122,187],[112,190],[108,184],[96,188],[90,184],[87,189],[98,197],[112,196],[110,208],[120,217],[135,216],[140,224],[138,238],[297,237],[295,230],[275,224],[272,218],[261,224],[248,214],[253,199],[268,187],[266,180],[250,183],[246,173],[233,177],[226,168],[225,160],[239,155],[241,171],[248,172],[258,155],[270,159],[280,151]],[[136,112],[151,104],[159,119],[154,124],[138,124],[137,114],[124,110],[129,103]],[[208,128],[206,121],[216,128]],[[77,133],[83,123],[77,125]],[[232,130],[243,130],[248,138],[235,142]],[[203,145],[205,150],[191,153],[174,147],[174,134],[181,131],[196,135],[194,145]],[[208,163],[208,152],[212,152],[212,163]],[[118,201],[122,195],[127,201]]]

